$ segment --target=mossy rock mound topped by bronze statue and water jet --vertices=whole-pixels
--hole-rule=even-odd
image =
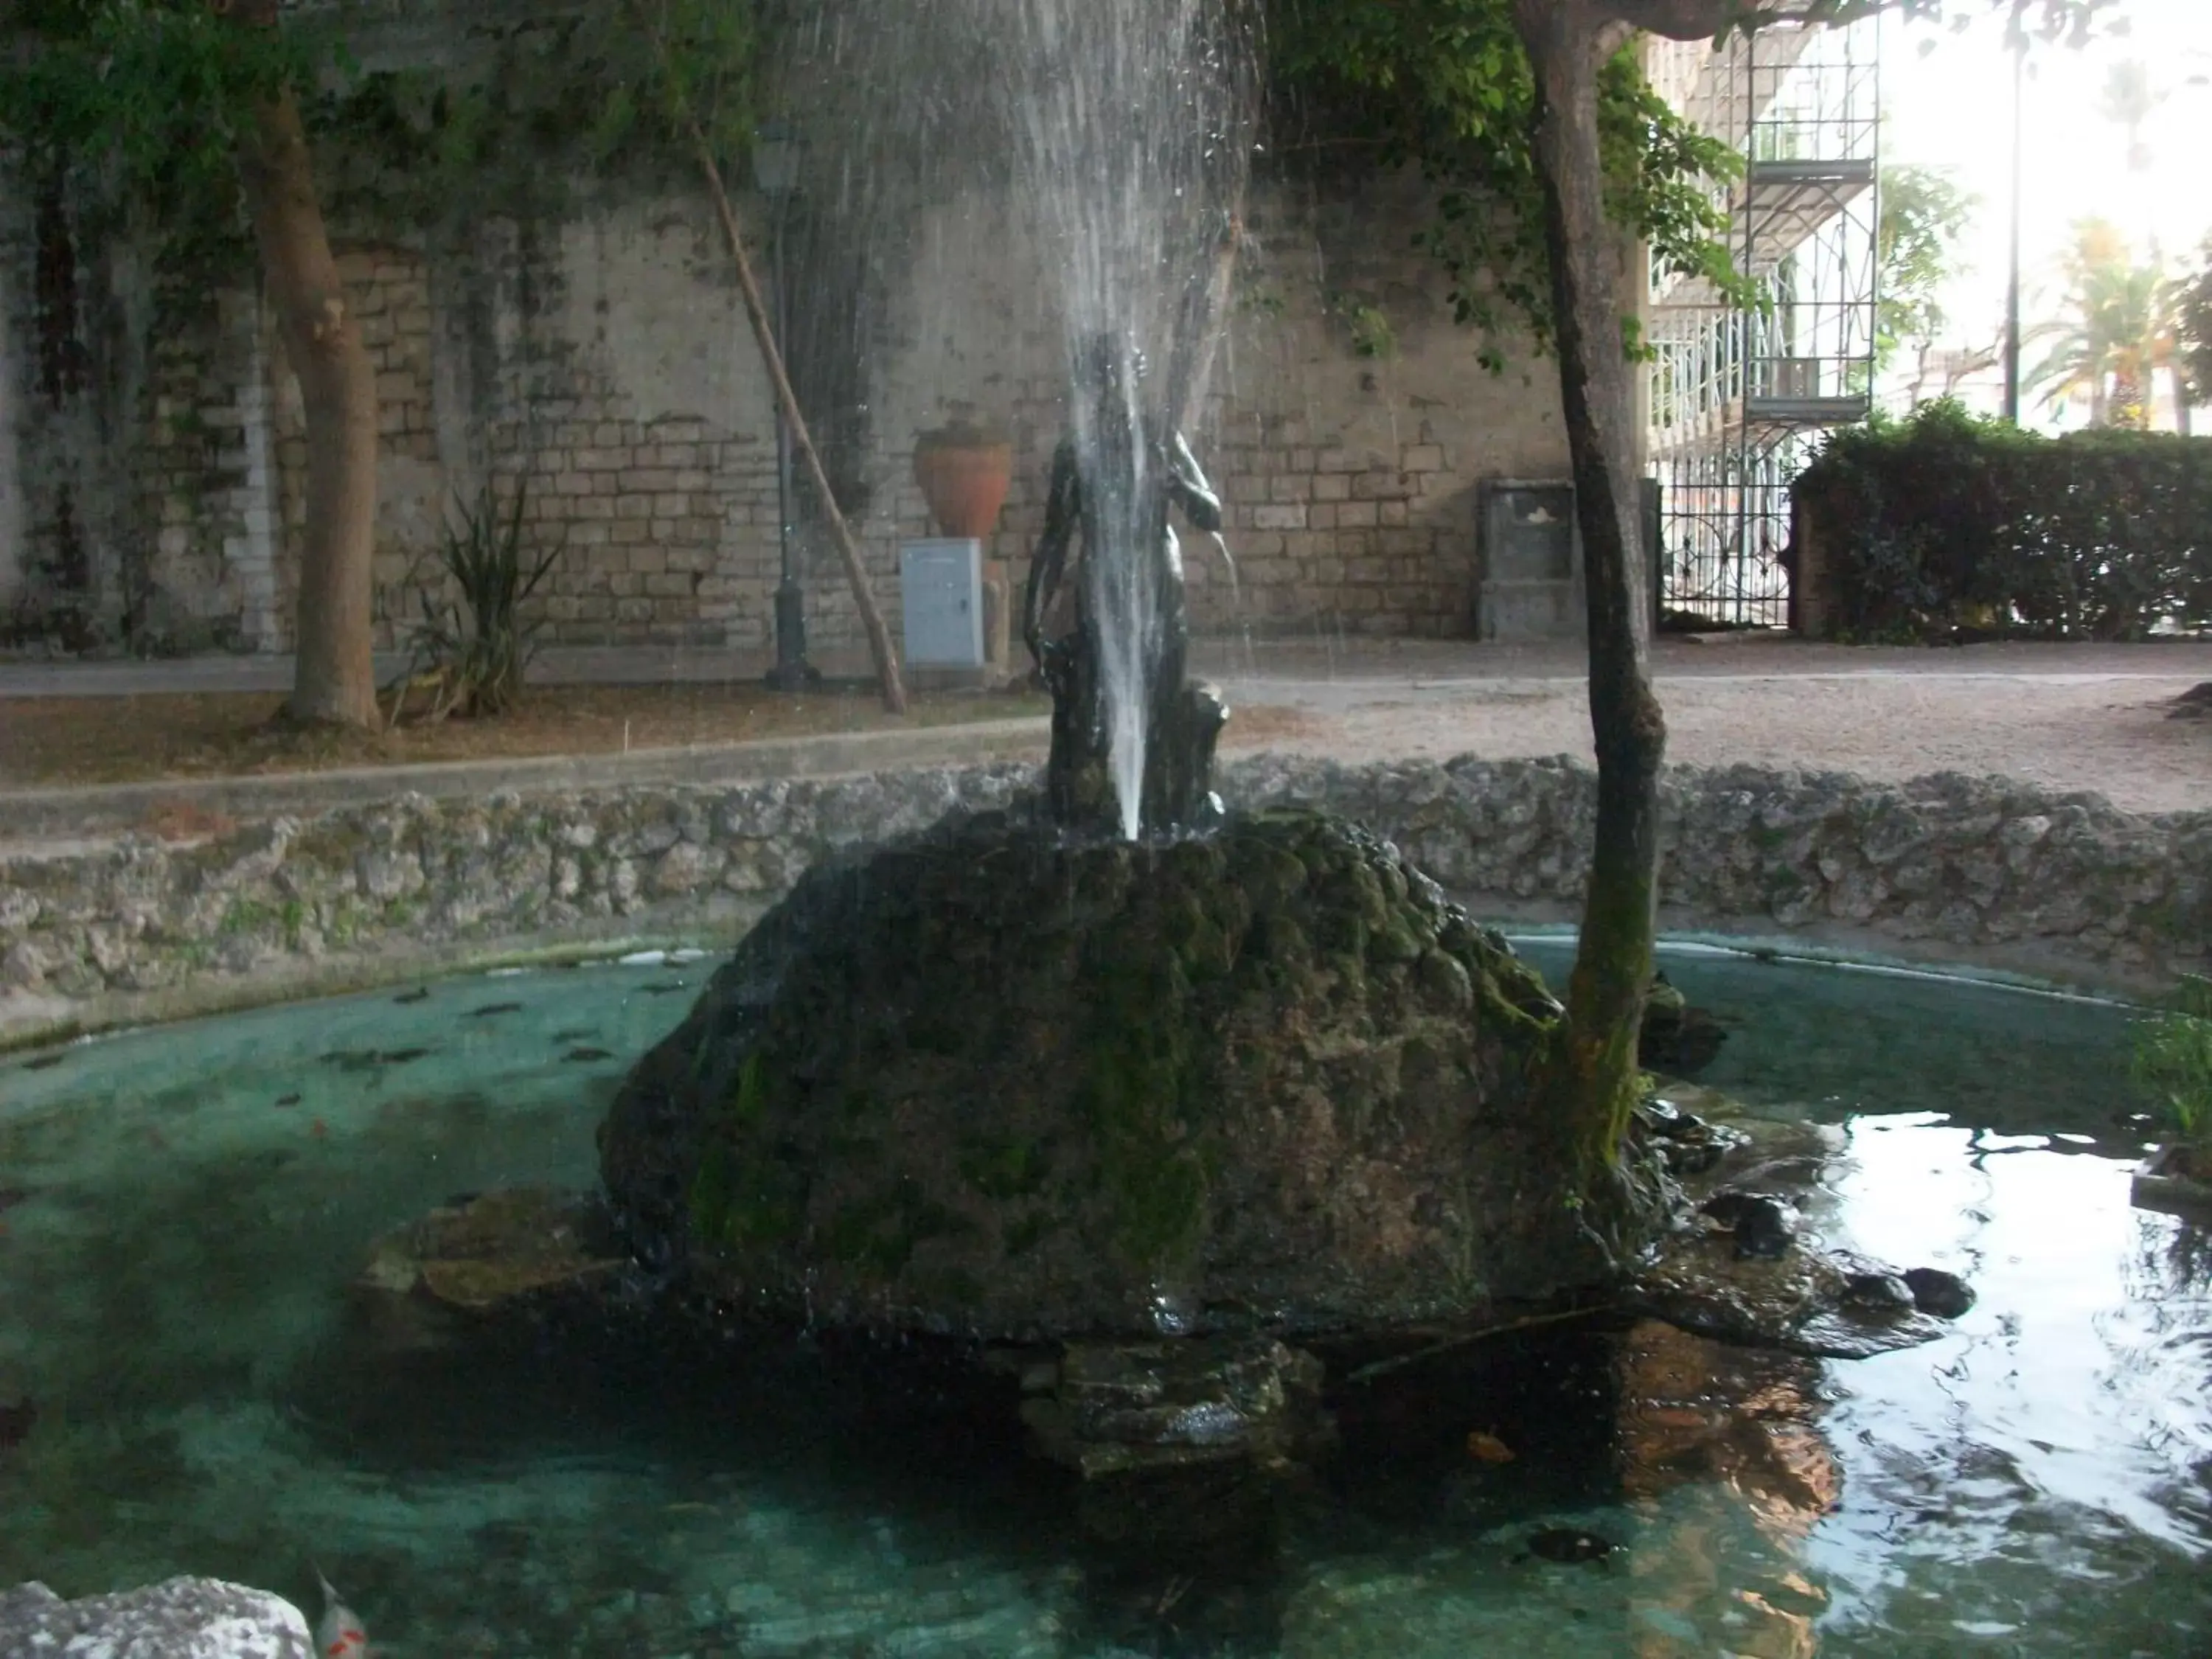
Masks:
[[[1181,427],[1234,248],[1232,42],[1197,0],[975,4],[1073,380],[1022,628],[1044,796],[807,872],[630,1073],[602,1177],[670,1305],[942,1338],[1024,1380],[1040,1449],[1113,1493],[1102,1535],[1192,1480],[1239,1531],[1254,1471],[1325,1438],[1301,1345],[1573,1307],[1624,1265],[1535,1110],[1542,978],[1358,825],[1212,796],[1170,509],[1221,526]],[[1655,1108],[1630,1157],[1657,1192],[1725,1150]],[[1878,1263],[1790,1250],[1778,1201],[1714,1214],[1650,1276],[1679,1325],[1931,1334]]]

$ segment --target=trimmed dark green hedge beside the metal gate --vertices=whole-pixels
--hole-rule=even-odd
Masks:
[[[1834,434],[1794,509],[1836,637],[2212,628],[2212,438],[2044,438],[1936,403]]]

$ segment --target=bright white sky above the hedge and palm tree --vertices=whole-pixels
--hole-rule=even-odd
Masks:
[[[1978,9],[1980,11],[1980,9]],[[2057,310],[2055,261],[2084,217],[2119,226],[2139,254],[2194,257],[2212,232],[2212,0],[2124,0],[2128,33],[2084,49],[2028,53],[2022,188],[2026,327]],[[2013,66],[1993,18],[1973,27],[1882,24],[1882,159],[1947,168],[1980,208],[1962,243],[1971,265],[1944,294],[1942,345],[1980,345],[2004,323],[2011,212]],[[2166,102],[2143,126],[2150,157],[2128,166],[2128,135],[2099,115],[2104,80],[2124,58],[2150,66]],[[2203,84],[2192,84],[2203,77]],[[2028,347],[2033,363],[2035,347]],[[2031,409],[2022,411],[2033,414]]]

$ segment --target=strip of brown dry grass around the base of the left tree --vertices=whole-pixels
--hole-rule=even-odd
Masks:
[[[498,719],[392,732],[276,726],[274,692],[0,699],[0,783],[53,787],[323,772],[345,765],[617,754],[825,732],[883,732],[1048,712],[1029,692],[918,695],[900,721],[872,688],[783,697],[757,686],[538,686]]]

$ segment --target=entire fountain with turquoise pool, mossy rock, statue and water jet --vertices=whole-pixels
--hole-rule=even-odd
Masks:
[[[1971,1296],[1949,1274],[1794,1239],[1785,1194],[1730,1177],[1792,1179],[1829,1223],[1814,1172],[1843,1161],[1843,1133],[1694,1088],[1637,1115],[1639,1177],[1683,1201],[1666,1250],[1626,1281],[1564,1201],[1535,1121],[1531,1079],[1559,1013],[1542,975],[1358,825],[1212,799],[1225,710],[1186,681],[1168,513],[1219,524],[1181,431],[1217,310],[1206,259],[1234,201],[1192,179],[1234,166],[1208,142],[1228,124],[1168,117],[1228,84],[1219,42],[1188,0],[998,0],[991,15],[1026,88],[1022,164],[1068,252],[1079,389],[1024,606],[1055,692],[1042,801],[812,869],[622,1077],[597,1133],[604,1190],[577,1190],[575,1066],[626,1066],[661,1029],[650,1009],[666,1004],[641,998],[684,980],[624,995],[540,975],[526,995],[544,1064],[520,1088],[515,1033],[438,1053],[456,1029],[524,1015],[460,980],[380,1000],[374,1020],[365,1004],[292,1015],[296,1051],[257,1031],[237,1044],[252,1060],[228,1062],[246,1086],[232,1077],[212,1110],[201,1079],[221,1066],[175,1033],[27,1062],[40,1079],[82,1066],[84,1106],[0,1119],[22,1181],[0,1192],[22,1206],[0,1283],[35,1332],[0,1347],[0,1478],[24,1498],[0,1506],[0,1551],[88,1577],[95,1551],[135,1566],[184,1553],[186,1535],[210,1564],[276,1577],[303,1540],[338,1533],[422,1632],[418,1650],[438,1652],[818,1652],[876,1630],[900,1650],[1086,1650],[1084,1621],[1106,1619],[1077,1613],[1079,1575],[1040,1573],[1015,1537],[1035,1522],[1031,1489],[991,1484],[1020,1425],[1079,1478],[1093,1540],[1168,1564],[1128,1597],[1148,1646],[1161,1628],[1217,1646],[1190,1575],[1223,1542],[1265,1555],[1287,1478],[1343,1444],[1349,1509],[1365,1495],[1371,1511],[1336,1535],[1307,1511],[1292,1593],[1243,1621],[1265,1630],[1245,1650],[1794,1652],[1825,1582],[1867,1601],[1845,1571],[1798,1559],[1838,1506],[1838,1458],[1814,1429],[1838,1409],[1836,1447],[1882,1449],[1854,1473],[1882,1493],[1871,1524],[1849,1524],[1911,1540],[1863,1551],[1909,1586],[1869,1626],[1885,1646],[1865,1650],[1896,1648],[1889,1621],[1936,1621],[1933,1648],[1986,1628],[1966,1621],[1984,1582],[1953,1559],[1995,1559],[1986,1584],[2004,1588],[1982,1599],[2086,1630],[2075,1650],[2152,1650],[2201,1624],[2201,1575],[2148,1593],[2128,1577],[2197,1513],[2188,1482],[2143,1455],[2190,1429],[2141,1400],[2115,1411],[2130,1376],[2143,1396],[2183,1394],[2166,1312],[2097,1281],[2135,1314],[2119,1383],[2097,1378],[2095,1409],[2068,1396],[2051,1440],[2022,1429],[2011,1396],[2110,1340],[2084,1312],[2095,1296],[2051,1296],[2077,1263],[2020,1263],[2051,1243],[2053,1192],[2108,1232],[2124,1214],[2124,1177],[2075,1155],[2090,1135],[2022,1150],[2051,1124],[2110,1133],[2084,1040],[2110,1042],[2115,1015],[2055,1004],[1962,1048],[1889,980],[1858,975],[1825,1011],[1809,969],[1739,969],[1783,1031],[1767,1033],[1772,1064],[1809,1068],[1792,1073],[1792,1102],[1840,1102],[1847,1082],[1896,1115],[1874,1135],[1900,1141],[1896,1168],[1958,1161],[1949,1199],[1920,1206],[1929,1225],[1949,1206],[1986,1228],[1991,1190],[2017,1186],[2017,1237],[1991,1241],[1989,1261],[2000,1285],[2011,1276],[2004,1340],[2039,1363],[1962,1356],[1936,1398],[1836,1405],[1803,1356],[1924,1340],[1931,1314]],[[1168,363],[1157,380],[1141,372],[1152,354]],[[1068,586],[1073,626],[1051,633]],[[1776,991],[1776,973],[1801,978]],[[1869,1026],[1858,1000],[1876,995],[1898,1006]],[[1712,1060],[1710,1018],[1681,993],[1659,1013],[1644,1033],[1655,1064]],[[330,1048],[332,1020],[361,1046]],[[1863,1051],[1823,1060],[1838,1033]],[[1929,1053],[1898,1062],[1913,1040]],[[445,1093],[398,1082],[425,1060],[456,1066]],[[2000,1060],[2020,1064],[2017,1086]],[[2002,1115],[1969,1119],[1997,1135],[1949,1146],[1936,1110],[1900,1113],[1931,1079],[1927,1104],[1949,1110],[1966,1075],[2002,1097],[1984,1108]],[[422,1192],[451,1197],[385,1232],[341,1298],[332,1263],[361,1261],[358,1243]],[[1900,1208],[1869,1206],[1891,1223]],[[2194,1234],[2179,1245],[2201,1252]],[[343,1334],[341,1301],[367,1310]],[[2039,1327],[2051,1303],[2079,1318]],[[1787,1356],[1730,1363],[1683,1332]],[[35,1400],[13,1380],[29,1360]],[[878,1376],[900,1402],[889,1433]],[[962,1533],[911,1491],[869,1486],[852,1515],[816,1504],[810,1482],[867,1462],[847,1458],[854,1425],[883,1467],[920,1447],[947,1475],[929,1484],[971,1511],[956,1522],[989,1513],[1004,1537]],[[1931,1449],[1900,1451],[1900,1425]],[[2066,1586],[2079,1595],[2053,1595],[2055,1493],[2086,1491],[2088,1513],[2081,1469],[2099,1453],[2135,1458],[2132,1484],[2084,1526],[2088,1566]],[[1947,1469],[1975,1475],[1958,1513],[1920,1480]],[[1400,1526],[1376,1553],[1389,1526],[1374,1513],[1398,1513],[1394,1489],[1413,1482],[1433,1486],[1422,1513],[1440,1524]],[[2128,1504],[2150,1515],[2137,1531],[2115,1522]],[[1531,1531],[1531,1511],[1559,1509],[1562,1524]],[[1944,1528],[1951,1542],[1929,1546]],[[1590,1586],[1637,1597],[1617,1619],[1593,1615],[1584,1584],[1546,1599],[1551,1568],[1608,1559],[1630,1571]],[[2024,1588],[2008,1559],[2033,1562]],[[0,1626],[93,1617],[69,1606],[20,1590],[0,1597]]]

